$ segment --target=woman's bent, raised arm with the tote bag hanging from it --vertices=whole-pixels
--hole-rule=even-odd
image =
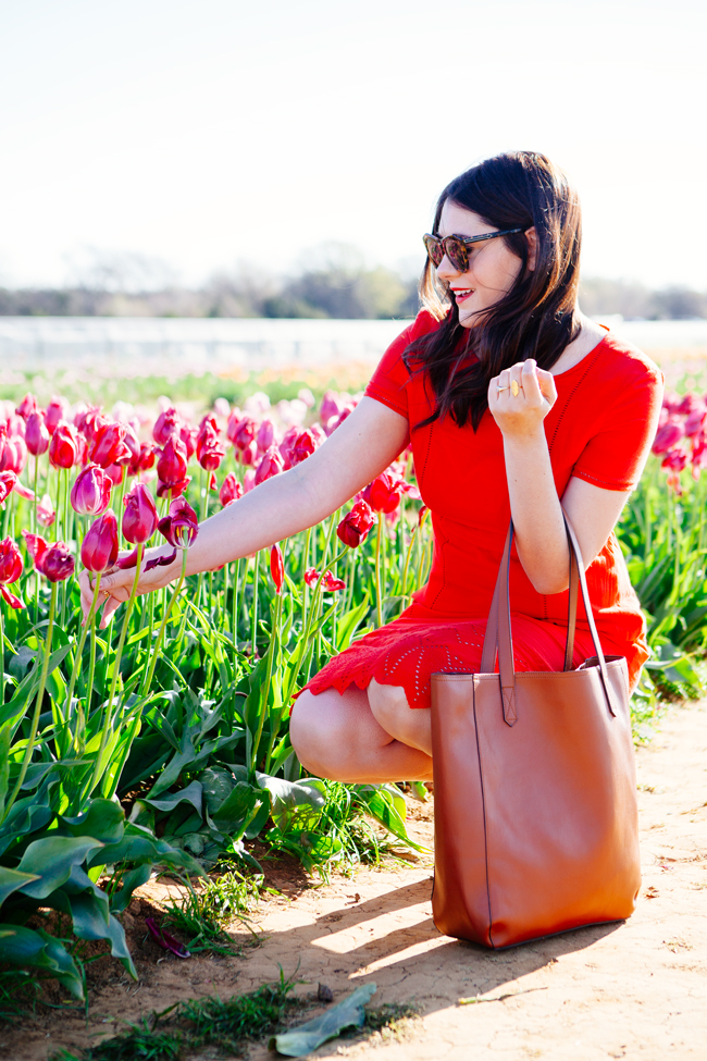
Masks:
[[[519,385],[517,395],[512,381]],[[553,375],[537,369],[532,358],[506,369],[488,387],[488,407],[504,436],[518,555],[533,587],[547,594],[560,593],[569,584],[567,534],[543,427],[556,399]],[[562,505],[585,565],[606,544],[628,496],[570,479]]]

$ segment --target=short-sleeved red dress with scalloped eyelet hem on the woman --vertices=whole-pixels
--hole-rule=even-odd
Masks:
[[[411,707],[430,706],[430,676],[474,673],[510,520],[500,430],[488,410],[479,430],[447,417],[414,430],[434,408],[425,377],[410,375],[402,351],[437,328],[429,313],[388,347],[365,394],[406,417],[418,486],[430,508],[434,557],[426,585],[398,619],[367,634],[309,681],[312,693],[371,678],[402,686]],[[610,333],[578,365],[555,377],[557,402],[545,433],[557,493],[572,476],[605,490],[632,490],[655,435],[662,397],[659,369]],[[611,533],[587,568],[592,609],[606,653],[623,655],[632,687],[648,656],[645,620],[619,543]],[[510,601],[517,670],[561,670],[568,594],[538,593],[513,548]],[[580,603],[574,665],[594,655]]]

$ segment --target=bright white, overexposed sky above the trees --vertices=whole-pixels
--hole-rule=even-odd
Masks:
[[[330,242],[417,270],[448,181],[526,148],[579,187],[585,275],[707,288],[706,30],[693,0],[0,0],[0,284]]]

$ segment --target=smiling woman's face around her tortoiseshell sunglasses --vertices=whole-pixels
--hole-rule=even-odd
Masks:
[[[494,225],[472,210],[458,206],[451,199],[445,201],[439,219],[441,236],[481,236],[495,231]],[[529,235],[532,231],[529,230]],[[533,249],[531,245],[531,251]],[[437,275],[449,284],[451,297],[459,307],[459,323],[463,328],[474,328],[480,322],[480,311],[488,309],[511,289],[522,262],[508,249],[503,236],[471,244],[467,247],[467,254],[469,268],[466,273],[458,272],[445,255],[437,267]],[[528,268],[532,269],[533,264],[529,260]]]

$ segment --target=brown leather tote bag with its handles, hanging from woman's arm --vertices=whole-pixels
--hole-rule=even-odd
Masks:
[[[566,526],[565,670],[513,671],[511,523],[482,673],[432,676],[433,916],[445,935],[485,947],[621,921],[641,884],[627,662],[601,652],[567,517]],[[596,656],[572,670],[578,584]]]

